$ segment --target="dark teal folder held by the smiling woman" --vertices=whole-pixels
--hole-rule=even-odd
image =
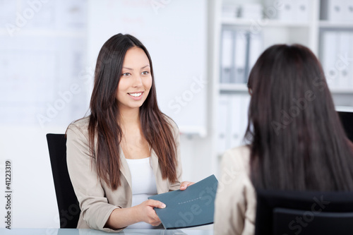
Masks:
[[[164,229],[180,229],[213,223],[215,195],[218,181],[214,175],[208,176],[186,188],[152,195],[148,199],[159,200],[166,205],[155,212]]]

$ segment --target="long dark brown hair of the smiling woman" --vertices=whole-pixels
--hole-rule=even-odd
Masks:
[[[118,120],[116,92],[124,56],[132,47],[143,49],[150,61],[152,76],[152,87],[139,110],[143,135],[158,157],[162,179],[169,179],[171,182],[177,180],[177,146],[171,120],[162,114],[157,105],[150,54],[136,37],[119,33],[107,40],[98,54],[88,126],[90,151],[91,155],[96,156],[97,174],[112,189],[116,189],[121,184],[119,144],[122,131]],[[95,138],[97,139],[96,152],[94,151]]]

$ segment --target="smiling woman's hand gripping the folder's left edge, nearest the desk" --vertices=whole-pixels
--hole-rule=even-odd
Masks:
[[[136,209],[138,209],[138,217],[139,221],[146,222],[151,224],[152,226],[160,225],[160,218],[157,216],[154,207],[157,208],[165,208],[164,203],[159,200],[145,200],[143,203],[136,205]]]

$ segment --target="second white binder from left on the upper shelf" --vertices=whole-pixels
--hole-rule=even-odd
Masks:
[[[242,30],[234,33],[234,83],[246,83],[246,61],[249,32]]]

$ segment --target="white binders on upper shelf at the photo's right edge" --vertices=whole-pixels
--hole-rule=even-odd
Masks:
[[[353,31],[323,31],[321,52],[330,88],[353,89]]]

